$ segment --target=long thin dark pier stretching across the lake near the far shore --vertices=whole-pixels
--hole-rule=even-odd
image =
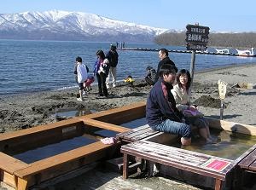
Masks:
[[[159,51],[160,49],[147,49],[147,48],[119,48],[119,50],[132,50],[132,51]],[[191,54],[191,50],[172,50],[167,49],[168,52],[172,53],[183,53],[183,54]],[[256,55],[239,55],[233,53],[218,53],[218,52],[208,52],[208,51],[195,51],[195,54],[200,55],[229,55],[229,56],[244,56],[244,57],[256,57]]]

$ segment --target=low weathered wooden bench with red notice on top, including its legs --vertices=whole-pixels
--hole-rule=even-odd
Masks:
[[[218,158],[203,153],[195,153],[177,147],[169,147],[151,141],[135,141],[124,145],[120,149],[124,153],[123,178],[128,177],[130,158],[141,158],[146,162],[151,161],[165,164],[180,170],[187,170],[202,176],[215,179],[215,189],[221,189],[222,182],[230,170],[236,165],[233,160]]]

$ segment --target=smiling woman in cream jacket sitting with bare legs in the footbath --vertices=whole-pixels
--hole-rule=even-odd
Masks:
[[[195,105],[190,105],[190,84],[191,77],[190,73],[186,69],[182,69],[177,73],[177,84],[173,87],[172,95],[177,103],[177,109],[180,112],[197,112],[201,113],[197,110]],[[189,117],[184,114],[186,123],[195,125],[199,129],[200,135],[207,140],[207,142],[213,141],[212,136],[210,135],[209,123],[207,119],[201,116]],[[192,116],[192,115],[191,115]]]

